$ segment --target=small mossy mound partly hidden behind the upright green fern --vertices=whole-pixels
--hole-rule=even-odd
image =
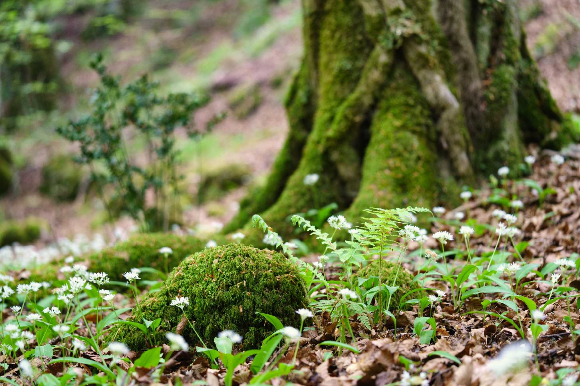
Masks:
[[[389,286],[393,286],[393,280],[397,274],[397,264],[389,260],[383,260],[380,263],[380,268],[382,271],[381,278],[383,283]],[[353,275],[353,280],[357,280],[357,277],[370,278],[371,276],[379,277],[379,260],[373,260],[367,266],[358,270],[356,274]],[[399,288],[391,296],[391,304],[389,306],[390,311],[397,309],[399,301],[405,293],[419,288],[419,283],[412,282],[413,279],[414,276],[411,274],[411,272],[409,272],[406,268],[401,267],[401,269],[398,271],[397,281],[394,284],[394,286],[398,286]],[[405,301],[416,298],[417,296],[417,293],[413,293],[406,297]],[[406,308],[408,307],[404,307],[404,309]]]

